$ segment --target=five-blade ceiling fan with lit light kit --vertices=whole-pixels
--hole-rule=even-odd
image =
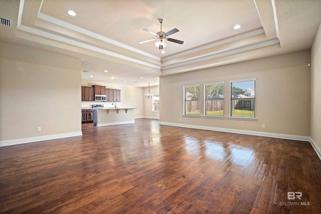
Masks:
[[[149,39],[149,40],[145,40],[145,41],[141,41],[139,42],[139,44],[142,44],[142,43],[146,43],[146,42],[150,42],[150,41],[154,41],[156,39],[159,39],[158,42],[155,43],[155,45],[158,47],[159,50],[162,50],[164,49],[167,44],[165,43],[165,40],[167,41],[170,41],[170,42],[174,42],[174,43],[178,43],[178,44],[183,44],[184,41],[181,41],[181,40],[176,40],[176,39],[172,39],[172,38],[167,38],[168,36],[172,35],[172,34],[175,34],[177,32],[179,32],[178,29],[174,28],[173,30],[165,33],[162,31],[162,24],[163,24],[163,19],[158,19],[159,23],[161,23],[161,31],[157,32],[157,33],[154,33],[148,29],[143,29],[144,31],[148,32],[149,34],[152,34],[154,36],[156,36],[156,38],[153,38],[153,39]]]

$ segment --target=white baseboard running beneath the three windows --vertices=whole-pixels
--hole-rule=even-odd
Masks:
[[[236,133],[236,134],[247,134],[247,135],[256,135],[256,136],[263,136],[263,137],[274,137],[274,138],[282,138],[282,139],[289,139],[289,140],[300,140],[300,141],[307,141],[307,142],[310,141],[309,136],[277,134],[277,133],[258,132],[258,131],[246,131],[246,130],[239,130],[239,129],[197,126],[197,125],[188,125],[188,124],[180,124],[180,123],[159,122],[159,124],[160,125],[168,125],[168,126],[178,126],[178,127],[184,127],[184,128],[204,129],[204,130],[210,130],[210,131],[230,132],[230,133]]]

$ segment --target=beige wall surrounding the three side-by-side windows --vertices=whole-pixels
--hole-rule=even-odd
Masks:
[[[159,121],[267,132],[310,135],[310,52],[302,51],[160,78],[162,102]],[[257,121],[228,119],[229,81],[256,78]],[[200,84],[201,115],[204,85],[225,82],[225,118],[183,117],[183,86]],[[180,119],[182,118],[182,121]],[[265,124],[265,128],[262,128]]]

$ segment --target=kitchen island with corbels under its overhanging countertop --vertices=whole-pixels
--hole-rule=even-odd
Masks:
[[[135,122],[135,108],[102,108],[94,109],[94,126],[111,126]]]

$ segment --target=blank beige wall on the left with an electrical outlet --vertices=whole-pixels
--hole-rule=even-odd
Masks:
[[[21,138],[81,135],[81,61],[0,46],[0,146]]]

